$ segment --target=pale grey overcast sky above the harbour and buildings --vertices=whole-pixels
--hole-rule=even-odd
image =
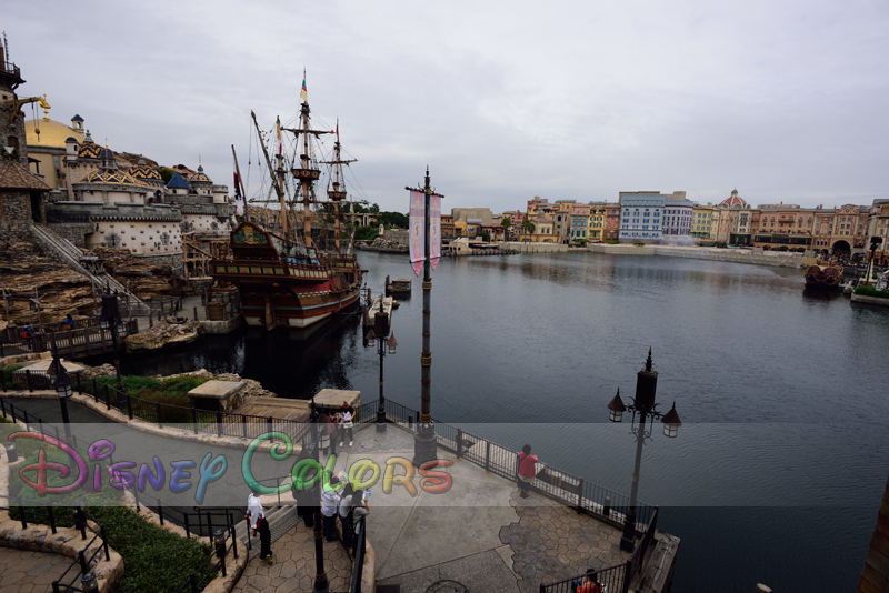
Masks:
[[[444,209],[889,198],[885,0],[17,6],[20,96],[113,150],[201,154],[218,183],[231,144],[248,175],[251,109],[264,129],[298,113],[306,67],[317,127],[339,118],[359,159],[348,189],[383,210],[407,212],[427,164]]]

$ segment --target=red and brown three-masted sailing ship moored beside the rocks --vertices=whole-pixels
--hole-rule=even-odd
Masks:
[[[353,160],[342,160],[340,157],[339,124],[336,132],[311,129],[309,103],[304,99],[303,93],[298,127],[281,128],[280,119],[277,123],[277,169],[272,169],[264,143],[260,142],[267,165],[273,173],[272,187],[281,209],[280,232],[272,232],[244,217],[244,222],[231,232],[229,253],[211,263],[211,275],[214,279],[229,282],[238,289],[242,314],[248,325],[269,330],[277,326],[308,328],[350,310],[360,300],[362,270],[351,254],[351,247],[343,253],[340,244],[340,207],[350,203],[346,202],[342,165]],[[256,122],[256,114],[252,117]],[[257,130],[259,131],[258,125]],[[298,159],[294,158],[291,165],[296,191],[290,200],[286,198],[284,190],[286,170],[280,140],[282,130],[297,138]],[[333,159],[319,162],[313,141],[321,134],[332,133],[337,134]],[[321,178],[320,164],[331,167],[328,200],[316,199],[314,184]],[[327,244],[317,244],[324,242],[312,239],[311,205],[322,202],[328,204],[328,211],[332,209],[334,219],[332,249],[328,249]],[[296,224],[290,225],[288,221],[288,205],[296,211],[300,203],[301,232],[291,228]]]

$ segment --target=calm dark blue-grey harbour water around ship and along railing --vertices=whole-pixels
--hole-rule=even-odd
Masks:
[[[403,257],[359,257],[374,294],[412,275]],[[683,426],[646,445],[639,496],[682,539],[675,592],[855,590],[889,471],[889,310],[807,294],[799,270],[590,253],[442,260],[432,287],[433,415],[621,492],[635,442],[606,404],[629,400],[652,348],[658,401]],[[419,409],[413,289],[386,389]],[[241,331],[124,366],[378,393],[358,315],[309,341]]]

